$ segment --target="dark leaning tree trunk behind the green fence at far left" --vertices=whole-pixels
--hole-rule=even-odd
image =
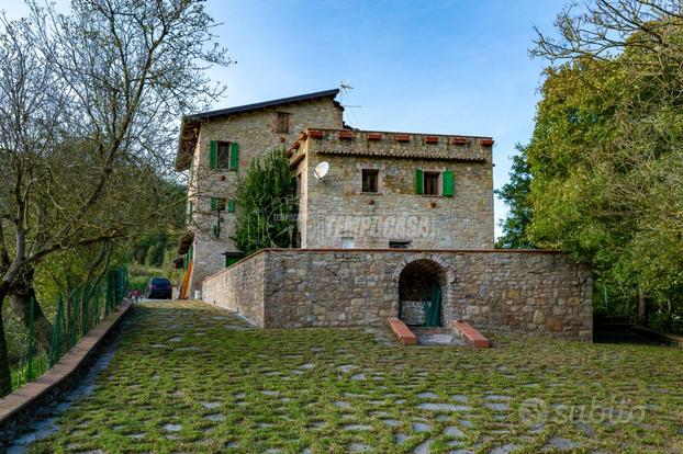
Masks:
[[[53,326],[45,317],[38,300],[35,297],[33,287],[33,269],[24,272],[10,292],[10,303],[12,310],[24,322],[29,329],[31,314],[31,298],[33,298],[33,336],[36,343],[49,354],[53,342]]]

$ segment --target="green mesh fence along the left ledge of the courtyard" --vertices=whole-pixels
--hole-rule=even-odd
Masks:
[[[128,272],[125,266],[108,271],[102,281],[87,282],[55,303],[52,347],[49,351],[36,344],[34,332],[35,302],[29,306],[26,349],[14,372],[13,387],[20,387],[41,376],[59,362],[83,336],[123,303],[128,294]]]

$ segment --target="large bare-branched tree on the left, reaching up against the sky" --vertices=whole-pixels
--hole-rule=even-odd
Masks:
[[[0,21],[0,300],[20,315],[46,257],[127,239],[184,203],[158,184],[175,178],[175,122],[222,93],[204,69],[231,63],[199,0],[29,4]],[[48,348],[40,305],[35,322]]]

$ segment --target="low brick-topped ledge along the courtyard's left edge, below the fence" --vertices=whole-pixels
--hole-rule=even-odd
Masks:
[[[122,304],[92,328],[61,360],[35,381],[0,399],[0,442],[11,441],[18,428],[35,415],[43,405],[56,400],[74,387],[85,374],[102,341],[112,333],[121,320],[131,313],[133,302]],[[0,444],[1,449],[2,444]]]

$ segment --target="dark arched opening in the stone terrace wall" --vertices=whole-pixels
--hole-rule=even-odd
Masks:
[[[445,291],[446,272],[439,263],[408,263],[399,276],[399,318],[408,326],[440,326]]]

